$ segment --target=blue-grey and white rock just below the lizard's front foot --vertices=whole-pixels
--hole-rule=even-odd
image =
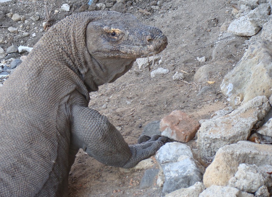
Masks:
[[[155,157],[164,172],[163,193],[165,194],[190,187],[202,180],[202,173],[193,159],[193,153],[185,144],[166,143],[157,151]]]

